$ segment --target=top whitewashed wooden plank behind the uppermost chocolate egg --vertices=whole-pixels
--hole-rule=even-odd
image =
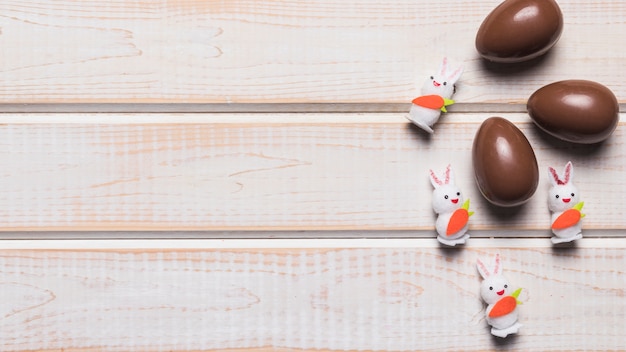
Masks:
[[[499,2],[3,1],[0,103],[404,104],[443,56],[465,65],[463,103],[523,104],[569,78],[625,101],[623,1],[560,1],[557,46],[515,66],[474,48]]]

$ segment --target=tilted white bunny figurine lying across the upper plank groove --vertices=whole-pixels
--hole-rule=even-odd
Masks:
[[[422,86],[422,95],[413,99],[407,118],[428,133],[433,133],[432,126],[441,112],[447,112],[446,106],[454,104],[454,84],[463,73],[463,67],[448,70],[448,60],[443,59],[439,73],[430,76]]]

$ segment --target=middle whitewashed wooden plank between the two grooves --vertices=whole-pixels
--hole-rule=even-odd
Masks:
[[[476,211],[472,231],[549,236],[547,168],[572,160],[586,202],[585,229],[606,235],[602,230],[626,228],[619,206],[626,179],[621,127],[602,145],[575,146],[545,136],[525,115],[504,116],[527,134],[541,170],[535,196],[514,209],[490,206],[473,180],[471,148],[484,114],[448,114],[432,137],[401,114],[166,114],[161,122],[151,115],[152,123],[131,124],[122,122],[132,115],[87,116],[109,124],[61,123],[46,115],[50,123],[0,126],[0,226],[430,236],[435,214],[428,170],[451,163]]]

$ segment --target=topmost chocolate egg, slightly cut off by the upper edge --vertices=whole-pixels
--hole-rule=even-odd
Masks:
[[[476,49],[490,61],[526,61],[550,50],[562,31],[563,14],[554,0],[505,0],[480,25]]]

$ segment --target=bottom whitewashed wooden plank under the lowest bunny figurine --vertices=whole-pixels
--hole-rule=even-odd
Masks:
[[[621,350],[620,249],[116,249],[0,252],[3,351]],[[620,242],[621,241],[621,242]],[[508,247],[508,246],[507,246]],[[489,335],[477,257],[522,288]]]

